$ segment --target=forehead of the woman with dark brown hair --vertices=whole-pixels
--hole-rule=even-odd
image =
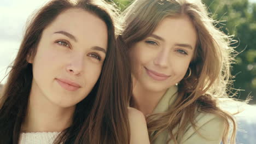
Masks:
[[[83,9],[68,9],[59,14],[56,19],[45,28],[46,33],[67,31],[72,33],[78,41],[90,41],[97,46],[107,46],[107,26],[96,14]]]

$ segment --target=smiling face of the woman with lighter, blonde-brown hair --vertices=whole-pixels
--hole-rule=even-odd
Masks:
[[[181,81],[193,58],[197,40],[189,17],[166,17],[146,39],[131,47],[135,87],[166,91]]]

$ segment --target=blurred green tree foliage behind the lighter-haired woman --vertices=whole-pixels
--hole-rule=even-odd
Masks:
[[[111,1],[111,0],[109,0]],[[131,1],[113,0],[120,10]],[[238,43],[232,46],[240,54],[232,65],[234,88],[243,89],[236,98],[245,100],[248,95],[256,95],[256,3],[248,0],[202,0],[214,20],[220,21],[216,27],[224,33],[234,35]],[[256,104],[256,97],[250,101]]]

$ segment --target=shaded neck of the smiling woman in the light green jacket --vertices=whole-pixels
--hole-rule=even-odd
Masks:
[[[152,92],[137,83],[133,87],[134,107],[141,111],[144,116],[150,115],[166,91],[167,89],[162,92]]]

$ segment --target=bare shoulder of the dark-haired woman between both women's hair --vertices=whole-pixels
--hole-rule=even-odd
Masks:
[[[128,107],[128,116],[131,133],[130,143],[149,143],[147,122],[143,113],[137,109]]]

